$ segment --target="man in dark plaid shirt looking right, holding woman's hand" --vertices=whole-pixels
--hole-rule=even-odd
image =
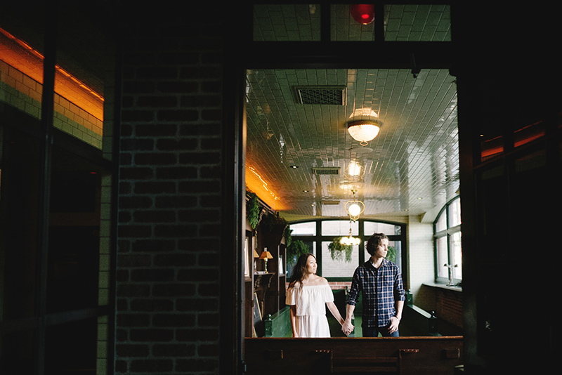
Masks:
[[[362,292],[363,337],[398,336],[398,324],[402,319],[405,291],[398,265],[385,259],[388,254],[388,237],[374,233],[367,242],[371,258],[360,265],[353,274],[349,291],[346,321],[341,327],[348,335],[353,330],[351,317],[359,292]]]

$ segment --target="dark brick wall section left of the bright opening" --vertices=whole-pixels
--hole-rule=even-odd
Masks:
[[[124,43],[116,374],[218,373],[221,44],[182,17]]]

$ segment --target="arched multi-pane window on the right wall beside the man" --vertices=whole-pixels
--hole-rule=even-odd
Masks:
[[[436,254],[436,281],[458,285],[462,282],[461,199],[452,199],[433,223]]]

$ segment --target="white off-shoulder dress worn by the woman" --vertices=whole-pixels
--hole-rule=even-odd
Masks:
[[[299,337],[329,337],[326,303],[334,301],[328,284],[287,289],[287,305],[296,305],[295,329]]]

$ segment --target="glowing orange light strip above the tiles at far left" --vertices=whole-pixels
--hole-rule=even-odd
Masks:
[[[0,28],[0,60],[43,84],[43,59],[39,51]],[[55,93],[103,121],[103,97],[62,67],[55,66]]]

